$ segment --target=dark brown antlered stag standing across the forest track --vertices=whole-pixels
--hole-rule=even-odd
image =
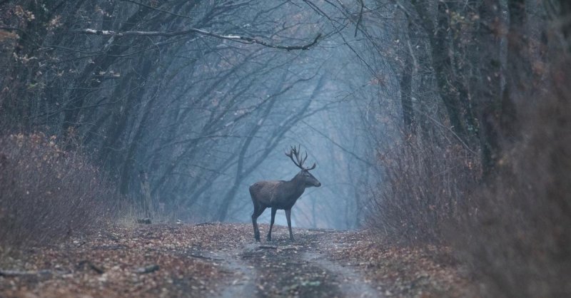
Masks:
[[[315,163],[310,168],[304,168],[303,163],[308,158],[308,153],[305,151],[305,158],[300,155],[299,148],[292,146],[290,152],[285,152],[285,156],[293,161],[301,170],[297,175],[295,175],[291,180],[263,180],[258,181],[250,186],[250,195],[252,197],[252,202],[254,205],[254,211],[252,213],[252,225],[254,228],[254,239],[256,242],[260,242],[260,230],[258,230],[258,217],[270,207],[272,211],[272,217],[270,221],[270,230],[268,232],[268,237],[266,240],[271,242],[272,240],[272,227],[273,220],[276,218],[276,211],[285,210],[285,218],[288,220],[288,229],[290,232],[290,241],[294,241],[293,232],[291,232],[291,207],[297,202],[299,197],[305,191],[307,187],[320,187],[321,183],[317,178],[313,177],[310,170],[315,169]],[[295,160],[293,159],[295,157]]]

